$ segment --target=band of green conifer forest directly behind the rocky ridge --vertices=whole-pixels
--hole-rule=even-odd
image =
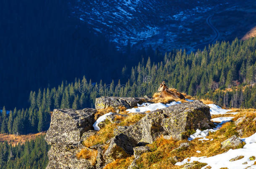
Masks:
[[[255,49],[256,38],[217,42],[196,53],[186,54],[185,50],[166,53],[163,61],[157,63],[150,58],[146,62],[142,59],[130,71],[124,67],[121,80],[108,85],[103,81],[92,83],[83,77],[73,83],[62,82],[57,88],[31,91],[28,109],[14,109],[9,114],[3,110],[1,133],[46,131],[54,108],[91,108],[100,96],[152,96],[161,81],[192,96],[211,98],[220,106],[252,108],[256,106]]]

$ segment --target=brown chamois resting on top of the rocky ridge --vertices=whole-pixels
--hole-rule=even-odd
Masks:
[[[183,94],[181,94],[180,92],[178,92],[176,89],[174,90],[170,90],[167,85],[165,84],[165,81],[162,81],[162,83],[160,83],[160,86],[158,88],[158,91],[161,92],[160,97],[164,98],[164,97],[168,97],[168,96],[172,96],[173,98],[180,98],[180,99],[185,99],[185,97],[183,96]]]

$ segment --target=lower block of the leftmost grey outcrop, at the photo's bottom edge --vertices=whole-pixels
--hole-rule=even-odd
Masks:
[[[77,159],[76,154],[83,148],[82,144],[52,144],[48,151],[49,163],[46,169],[94,169],[89,160]]]

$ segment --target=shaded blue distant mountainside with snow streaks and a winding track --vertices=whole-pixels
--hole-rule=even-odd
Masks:
[[[255,5],[251,0],[247,3],[79,0],[72,14],[90,25],[95,33],[104,34],[120,50],[131,44],[137,49],[152,46],[164,52],[174,48],[194,51],[216,40],[243,37],[256,19]]]

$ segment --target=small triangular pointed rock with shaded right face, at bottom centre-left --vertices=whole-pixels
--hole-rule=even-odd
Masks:
[[[128,154],[115,143],[115,137],[111,139],[110,145],[105,151],[103,158],[105,161],[105,165],[115,161],[115,159],[120,159],[122,157],[128,156]]]

